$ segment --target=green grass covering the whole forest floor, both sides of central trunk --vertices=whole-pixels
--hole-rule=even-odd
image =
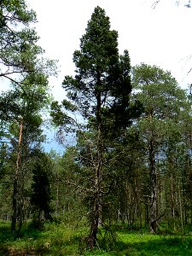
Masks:
[[[35,230],[26,224],[16,239],[11,236],[9,226],[9,222],[0,223],[0,255],[192,255],[191,235],[150,235],[146,231],[119,229],[114,242],[110,237],[103,241],[102,231],[96,249],[89,251],[84,249],[84,243],[79,243],[87,232],[83,225],[74,228],[69,224],[51,223],[44,224],[43,230]],[[81,253],[79,244],[83,244]]]

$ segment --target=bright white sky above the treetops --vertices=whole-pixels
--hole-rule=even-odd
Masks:
[[[172,72],[182,88],[192,83],[192,8],[188,0],[27,0],[37,13],[36,31],[45,55],[59,61],[61,72],[50,78],[55,99],[65,96],[61,83],[73,75],[73,52],[79,49],[79,38],[85,33],[96,6],[105,9],[111,28],[119,33],[119,53],[128,49],[131,65],[141,62]]]

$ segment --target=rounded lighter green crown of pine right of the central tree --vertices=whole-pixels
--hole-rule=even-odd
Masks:
[[[137,99],[143,103],[144,115],[155,119],[176,118],[186,102],[185,91],[177,85],[170,72],[142,64],[133,68],[133,86]]]

